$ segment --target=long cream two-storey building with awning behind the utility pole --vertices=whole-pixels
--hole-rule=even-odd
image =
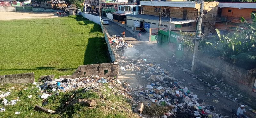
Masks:
[[[158,28],[160,11],[161,28],[170,28],[171,30],[195,31],[196,20],[199,15],[200,4],[191,1],[140,1],[143,15],[127,16],[127,26],[145,28]],[[217,15],[218,2],[204,2],[204,19],[202,23],[202,33],[208,35],[214,30],[214,23]],[[159,9],[160,7],[161,10]],[[170,18],[172,20],[170,20]],[[149,27],[148,27],[149,26]]]

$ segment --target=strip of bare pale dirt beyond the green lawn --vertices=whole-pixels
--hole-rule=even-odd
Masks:
[[[55,12],[0,12],[0,20],[56,18],[62,17]],[[65,15],[64,15],[65,16]]]

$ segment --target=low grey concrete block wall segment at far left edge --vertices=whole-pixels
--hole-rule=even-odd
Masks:
[[[35,82],[34,72],[12,75],[0,75],[0,83],[32,83]]]

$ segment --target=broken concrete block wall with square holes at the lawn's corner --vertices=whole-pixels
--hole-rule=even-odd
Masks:
[[[90,75],[118,77],[118,66],[118,62],[80,65],[72,75],[59,76],[59,78],[78,78]]]

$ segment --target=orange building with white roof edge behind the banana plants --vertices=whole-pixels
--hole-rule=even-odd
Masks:
[[[244,28],[244,23],[241,23],[240,17],[252,23],[251,14],[256,13],[256,2],[219,2],[218,17],[223,19],[222,22],[216,22],[215,28],[219,30],[233,30],[229,27],[240,26]]]

